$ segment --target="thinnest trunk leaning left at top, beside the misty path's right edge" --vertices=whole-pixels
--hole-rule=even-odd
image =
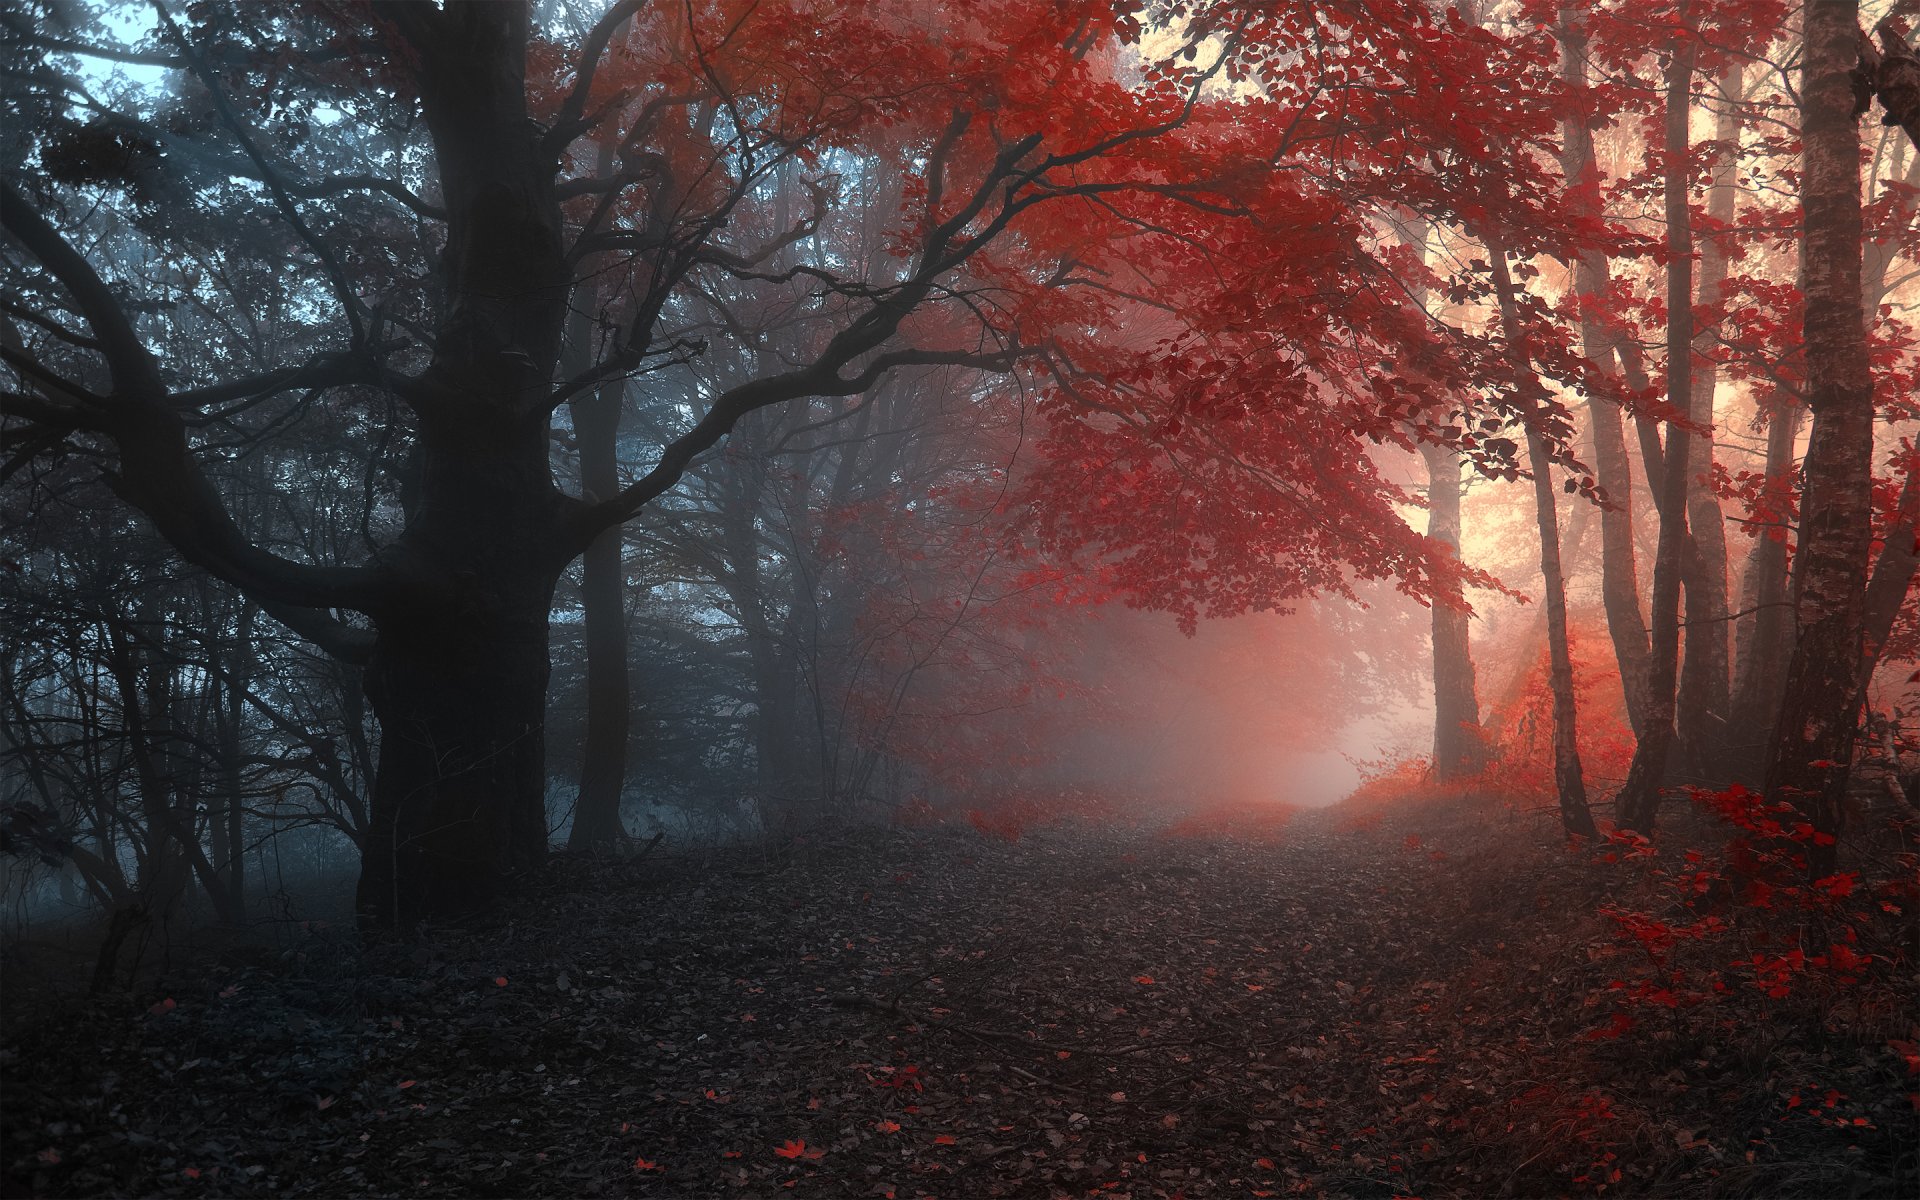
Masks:
[[[1553,455],[1542,422],[1540,378],[1526,359],[1521,330],[1519,296],[1507,271],[1507,248],[1488,240],[1494,269],[1494,292],[1500,300],[1500,328],[1513,363],[1515,388],[1526,411],[1526,465],[1534,476],[1534,513],[1540,522],[1540,580],[1548,612],[1548,662],[1553,689],[1553,787],[1559,797],[1561,824],[1572,837],[1597,837],[1594,814],[1586,803],[1586,778],[1580,768],[1578,710],[1572,691],[1572,649],[1567,641],[1567,578],[1561,570],[1559,509],[1553,488]]]

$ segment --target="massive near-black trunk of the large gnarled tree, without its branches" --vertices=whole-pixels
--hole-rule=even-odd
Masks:
[[[371,616],[380,722],[359,910],[476,912],[541,862],[547,618],[564,547],[547,396],[570,269],[526,111],[520,4],[388,8],[419,56],[447,209],[445,311],[409,401],[417,486]]]

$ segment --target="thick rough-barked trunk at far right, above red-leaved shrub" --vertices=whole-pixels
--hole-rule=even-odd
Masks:
[[[1853,760],[1872,553],[1874,380],[1860,305],[1860,129],[1851,71],[1859,4],[1807,6],[1801,67],[1801,294],[1807,298],[1807,493],[1801,503],[1793,607],[1799,639],[1766,762],[1766,795],[1801,806],[1826,845],[1809,870],[1834,864]]]

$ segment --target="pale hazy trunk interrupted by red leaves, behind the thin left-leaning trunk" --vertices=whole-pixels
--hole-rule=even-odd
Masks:
[[[1561,8],[1561,77],[1574,88],[1586,86],[1588,35],[1584,13]],[[1580,119],[1561,123],[1561,171],[1567,177],[1567,200],[1576,213],[1601,217],[1599,163],[1594,157],[1594,132]],[[1580,349],[1596,365],[1613,355],[1615,336],[1607,330],[1597,305],[1605,298],[1607,255],[1586,250],[1574,263],[1574,290],[1580,298]],[[1626,722],[1634,737],[1647,724],[1647,618],[1640,609],[1640,566],[1634,559],[1634,476],[1620,432],[1620,413],[1611,399],[1588,396],[1588,426],[1594,434],[1594,478],[1607,495],[1599,513],[1601,557],[1599,591],[1607,611],[1607,634],[1613,657],[1620,666],[1620,689],[1626,697]]]

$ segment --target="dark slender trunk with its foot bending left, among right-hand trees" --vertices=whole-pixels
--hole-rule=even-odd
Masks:
[[[1688,213],[1688,113],[1693,90],[1693,40],[1676,40],[1667,63],[1667,401],[1688,413],[1693,403],[1693,227]],[[1647,674],[1647,732],[1615,804],[1628,829],[1653,831],[1667,756],[1674,743],[1674,689],[1680,666],[1680,570],[1686,551],[1688,451],[1693,436],[1667,430],[1661,465],[1661,543],[1653,557],[1653,662]]]

